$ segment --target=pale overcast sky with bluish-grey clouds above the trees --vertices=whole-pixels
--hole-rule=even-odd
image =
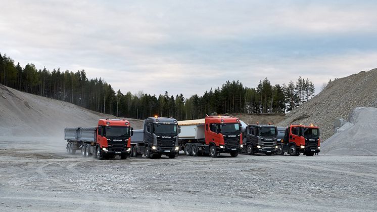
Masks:
[[[6,1],[0,52],[85,69],[122,93],[185,97],[226,80],[323,82],[377,67],[371,1]]]

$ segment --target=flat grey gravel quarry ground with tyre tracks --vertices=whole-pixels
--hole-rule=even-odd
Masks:
[[[375,156],[96,160],[38,141],[0,137],[0,211],[377,210]]]

